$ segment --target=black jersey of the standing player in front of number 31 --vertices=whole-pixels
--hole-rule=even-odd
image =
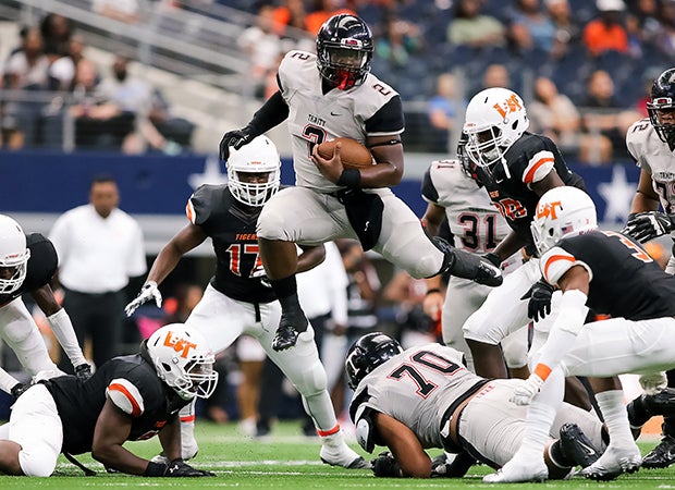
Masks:
[[[492,203],[498,207],[508,225],[526,244],[528,255],[536,255],[530,223],[535,218],[539,196],[530,185],[543,180],[555,170],[565,185],[586,191],[584,180],[574,173],[548,137],[525,132],[504,155],[508,174],[502,162],[489,169],[474,167],[474,177],[486,186]]]

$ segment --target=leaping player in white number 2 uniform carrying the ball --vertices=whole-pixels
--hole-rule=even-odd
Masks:
[[[308,330],[297,299],[295,243],[316,245],[339,237],[358,238],[415,278],[449,270],[489,285],[501,283],[499,268],[446,243],[434,245],[419,219],[389,186],[403,176],[403,109],[398,94],[370,73],[372,35],[355,15],[330,17],[317,35],[317,54],[291,51],[282,60],[279,91],[242,130],[225,133],[221,158],[230,147],[289,120],[296,187],[277,194],[258,220],[265,270],[283,314],[273,348],[283,351]],[[336,147],[321,158],[317,144],[348,137],[365,144],[375,161],[345,170]]]

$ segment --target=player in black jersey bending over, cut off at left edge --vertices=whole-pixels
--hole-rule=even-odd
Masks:
[[[0,215],[0,336],[14,351],[24,369],[33,377],[61,376],[49,358],[35,320],[22,301],[28,293],[47,320],[82,379],[91,376],[71,319],[59,305],[49,285],[58,265],[57,252],[39,233],[26,236],[12,218]],[[0,389],[19,396],[25,387],[0,368]]]

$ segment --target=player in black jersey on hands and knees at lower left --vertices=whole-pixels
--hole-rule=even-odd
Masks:
[[[114,357],[82,381],[62,376],[26,390],[0,427],[0,473],[50,476],[61,452],[91,456],[107,468],[155,477],[213,476],[181,460],[179,411],[208,397],[218,382],[206,339],[173,323],[140,353]],[[169,464],[136,456],[125,441],[159,439]]]

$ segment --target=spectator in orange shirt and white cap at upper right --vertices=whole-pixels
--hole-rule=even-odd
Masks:
[[[621,14],[626,10],[623,0],[596,0],[599,16],[584,27],[584,45],[593,56],[604,51],[628,53],[628,32]]]

